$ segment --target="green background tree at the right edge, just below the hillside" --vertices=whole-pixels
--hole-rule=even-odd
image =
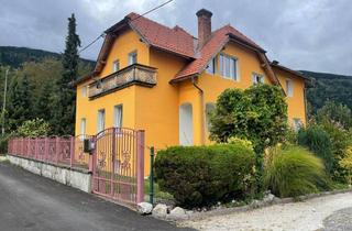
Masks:
[[[329,100],[318,110],[317,121],[323,124],[336,123],[343,129],[349,129],[352,128],[352,111],[344,105]]]

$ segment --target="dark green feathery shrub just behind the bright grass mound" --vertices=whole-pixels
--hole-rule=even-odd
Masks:
[[[321,125],[309,124],[306,129],[298,132],[298,144],[308,147],[317,156],[323,160],[329,173],[333,172],[334,158],[332,143],[329,134]]]

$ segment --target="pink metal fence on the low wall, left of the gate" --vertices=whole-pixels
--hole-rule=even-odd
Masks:
[[[9,140],[9,154],[77,168],[89,168],[89,155],[84,152],[84,139],[91,135],[13,138]]]

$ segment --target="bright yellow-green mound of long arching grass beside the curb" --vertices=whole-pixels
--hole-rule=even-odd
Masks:
[[[278,197],[297,197],[330,188],[323,163],[299,146],[271,150],[264,184]]]

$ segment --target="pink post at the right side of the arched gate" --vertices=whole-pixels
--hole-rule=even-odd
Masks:
[[[136,202],[144,200],[144,130],[136,132]]]

